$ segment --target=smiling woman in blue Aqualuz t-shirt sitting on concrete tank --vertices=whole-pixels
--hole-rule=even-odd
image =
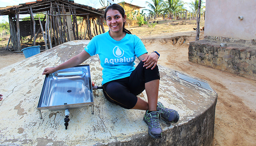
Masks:
[[[98,54],[103,67],[102,85],[106,99],[123,108],[145,110],[143,119],[148,124],[149,135],[161,138],[160,114],[164,120],[173,123],[178,122],[179,115],[158,102],[160,76],[156,64],[160,55],[157,52],[148,55],[142,41],[124,28],[126,15],[120,5],[108,6],[104,18],[108,32],[96,35],[79,55],[57,67],[44,69],[43,74],[77,66]],[[135,56],[140,60],[136,68]],[[137,97],[143,90],[146,90],[148,102]]]

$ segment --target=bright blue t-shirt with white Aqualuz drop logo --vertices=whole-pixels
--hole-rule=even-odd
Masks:
[[[122,40],[116,41],[108,32],[94,36],[84,49],[90,56],[99,55],[103,68],[102,85],[129,77],[135,69],[135,56],[148,53],[138,36],[126,34]]]

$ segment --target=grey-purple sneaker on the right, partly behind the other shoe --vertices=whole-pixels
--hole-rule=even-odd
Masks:
[[[180,118],[177,111],[164,107],[161,102],[158,102],[156,110],[160,111],[162,119],[167,122],[177,123]]]

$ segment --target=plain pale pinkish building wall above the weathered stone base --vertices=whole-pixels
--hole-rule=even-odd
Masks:
[[[255,0],[207,0],[204,35],[256,39],[255,6]]]

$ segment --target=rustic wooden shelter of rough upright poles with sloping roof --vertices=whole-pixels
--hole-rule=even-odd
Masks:
[[[44,18],[34,18],[34,14],[44,13]],[[29,14],[30,19],[23,20],[20,15]],[[74,3],[73,0],[37,0],[16,6],[0,8],[0,15],[9,16],[10,39],[16,51],[21,50],[21,38],[31,36],[32,46],[36,45],[39,33],[43,34],[46,50],[78,39],[92,39],[98,33],[105,33],[103,27],[104,11],[90,6]],[[80,34],[77,16],[82,17]],[[20,21],[22,20],[22,21]],[[93,32],[92,32],[93,30]]]

